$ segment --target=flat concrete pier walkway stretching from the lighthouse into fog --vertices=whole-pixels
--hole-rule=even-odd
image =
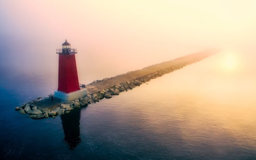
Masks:
[[[216,52],[217,52],[216,50],[196,52],[196,53],[189,54],[174,60],[166,61],[166,62],[152,65],[140,70],[136,70],[134,72],[131,72],[125,75],[116,76],[106,81],[101,81],[95,84],[86,85],[86,88],[88,90],[88,94],[100,92],[101,90],[114,87],[115,84],[120,84],[122,82],[134,80],[142,76],[147,76],[151,73],[157,72],[159,70],[162,70],[168,67],[175,66],[177,64],[191,64],[196,61],[203,60],[204,58],[207,58]]]

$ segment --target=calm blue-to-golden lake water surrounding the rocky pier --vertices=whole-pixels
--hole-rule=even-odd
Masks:
[[[1,159],[256,159],[256,67],[222,60],[42,120],[14,107],[56,90],[57,72],[0,69]]]

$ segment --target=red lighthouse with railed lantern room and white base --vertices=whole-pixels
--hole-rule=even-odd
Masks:
[[[66,101],[87,95],[87,89],[79,87],[75,57],[77,50],[70,46],[66,40],[61,49],[56,49],[59,54],[59,75],[58,90],[54,92],[54,96]]]

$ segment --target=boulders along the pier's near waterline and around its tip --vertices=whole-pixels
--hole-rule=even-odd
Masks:
[[[76,99],[73,101],[66,101],[64,103],[61,103],[60,107],[57,107],[53,110],[40,110],[34,104],[32,104],[33,102],[51,97],[52,96],[51,94],[48,96],[45,96],[44,98],[39,97],[37,100],[32,100],[31,102],[25,103],[25,104],[21,105],[20,107],[16,107],[15,110],[16,111],[20,110],[20,114],[28,114],[29,115],[28,117],[33,118],[33,119],[48,118],[49,116],[55,118],[57,115],[70,113],[74,108],[86,107],[88,104],[99,102],[100,99],[102,99],[104,97],[112,98],[113,95],[119,95],[120,92],[132,90],[133,88],[140,86],[143,83],[149,82],[151,79],[157,78],[166,73],[170,73],[174,70],[183,68],[187,64],[188,63],[178,64],[178,65],[175,65],[175,66],[172,66],[169,68],[159,70],[159,71],[149,74],[147,76],[138,77],[131,81],[116,84],[111,88],[101,90],[100,92],[97,92],[97,93],[88,94],[85,97],[82,97],[82,98],[79,98],[79,99]],[[111,78],[106,78],[106,80],[111,79]],[[93,83],[98,83],[103,80],[93,81]]]

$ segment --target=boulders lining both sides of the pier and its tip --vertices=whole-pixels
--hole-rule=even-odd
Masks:
[[[40,101],[40,100],[43,100],[43,99],[46,99],[46,98],[49,98],[52,96],[52,95],[48,95],[44,98],[40,97],[37,100],[32,100],[31,102],[28,102],[19,107],[16,107],[15,110],[16,111],[19,110],[20,114],[24,114],[24,115],[28,114],[28,117],[33,118],[33,119],[42,119],[42,118],[48,118],[48,117],[55,118],[57,115],[68,114],[68,113],[72,112],[72,110],[74,110],[74,109],[77,109],[80,107],[86,107],[91,103],[99,102],[103,98],[112,98],[113,96],[119,95],[120,92],[132,90],[133,88],[136,88],[137,86],[140,86],[143,83],[149,82],[151,79],[163,76],[164,74],[173,72],[180,68],[183,68],[184,66],[186,66],[188,64],[195,63],[196,61],[200,61],[200,60],[210,56],[211,54],[209,54],[209,55],[202,54],[201,55],[201,53],[200,54],[196,53],[197,56],[201,55],[201,57],[199,56],[194,59],[184,56],[184,57],[175,59],[175,61],[178,60],[179,63],[170,64],[171,65],[170,67],[168,67],[165,62],[163,62],[163,65],[162,65],[162,63],[152,65],[153,67],[156,66],[156,68],[159,68],[159,65],[167,66],[167,67],[157,70],[157,71],[155,70],[153,72],[149,72],[150,74],[136,77],[135,79],[131,78],[132,80],[128,79],[128,81],[121,82],[120,84],[115,84],[115,85],[109,84],[108,88],[106,87],[105,89],[102,89],[102,90],[99,89],[99,90],[97,90],[97,92],[90,92],[90,94],[88,94],[85,97],[81,97],[81,98],[73,100],[73,101],[65,101],[62,103],[58,103],[58,107],[56,107],[54,109],[40,110],[33,104],[33,102]],[[194,54],[193,54],[193,56],[194,56]],[[182,62],[180,62],[180,61],[182,61]],[[170,63],[170,62],[168,62],[168,63]],[[146,67],[146,69],[151,68],[151,70],[152,70],[152,66],[148,66],[148,67]],[[138,70],[136,70],[136,71],[138,71]],[[111,78],[104,78],[102,80],[96,80],[90,84],[87,84],[86,86],[88,88],[90,88],[90,86],[92,86],[92,85],[95,86],[98,83],[103,83],[104,81],[108,82],[108,80],[110,80],[110,79],[118,79],[118,77],[124,77],[124,76],[131,74],[133,72],[136,72],[136,71],[131,71],[126,74],[117,75],[117,76],[111,77]],[[104,88],[104,87],[102,87],[103,85],[100,85],[100,86],[101,86],[101,88]],[[91,91],[94,91],[94,90],[92,89]]]

